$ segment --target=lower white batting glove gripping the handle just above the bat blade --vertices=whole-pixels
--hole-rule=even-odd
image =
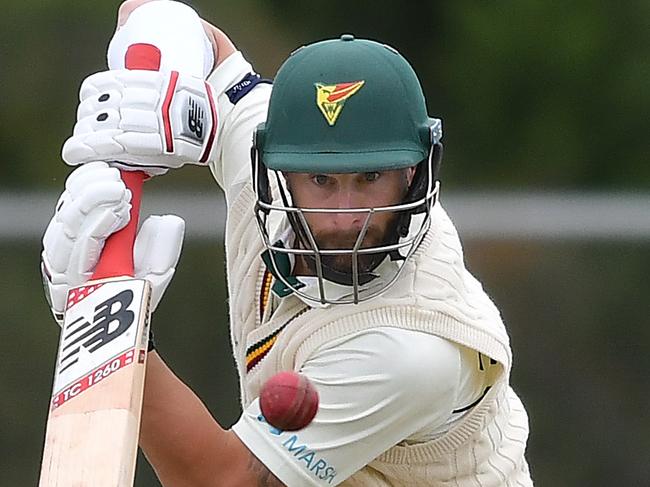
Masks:
[[[88,281],[106,239],[129,222],[131,192],[119,171],[91,162],[67,179],[43,237],[41,270],[54,318],[63,320],[68,290]],[[155,309],[171,281],[183,245],[185,222],[174,215],[151,216],[135,241],[135,276],[152,285]]]

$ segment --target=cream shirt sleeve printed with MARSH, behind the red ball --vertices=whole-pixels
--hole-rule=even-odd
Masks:
[[[359,332],[328,342],[301,369],[320,397],[310,425],[280,431],[256,399],[233,431],[286,485],[338,485],[424,426],[447,421],[460,363],[457,345],[430,334]]]

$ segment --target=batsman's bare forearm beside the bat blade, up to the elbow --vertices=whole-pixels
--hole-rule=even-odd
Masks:
[[[140,446],[165,487],[225,485],[241,454],[201,400],[156,352],[147,360]],[[221,479],[221,481],[220,481]]]

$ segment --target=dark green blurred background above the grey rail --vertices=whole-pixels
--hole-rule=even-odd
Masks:
[[[77,91],[105,69],[119,1],[6,0],[2,187],[60,187]],[[645,189],[650,3],[188,2],[273,77],[298,46],[352,32],[394,45],[445,124],[448,187]],[[398,92],[395,92],[398,95]],[[184,173],[178,185],[193,185]]]

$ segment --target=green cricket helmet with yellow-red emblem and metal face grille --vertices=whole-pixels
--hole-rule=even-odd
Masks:
[[[255,212],[267,247],[265,260],[284,288],[320,303],[357,303],[392,284],[430,226],[439,190],[441,138],[442,122],[427,115],[417,75],[395,49],[345,34],[294,51],[276,75],[267,120],[257,127],[252,148]],[[409,167],[416,171],[404,200],[382,208],[300,208],[283,177],[288,172]],[[319,248],[305,214],[332,212],[366,214],[353,248]],[[364,247],[370,218],[381,212],[396,215],[390,238],[380,246]],[[286,215],[293,227],[293,245],[276,240],[271,230],[277,227],[275,214]],[[349,271],[327,266],[328,256],[342,254],[350,257]],[[282,270],[287,258],[296,256],[313,270],[317,292],[305,292],[309,286]],[[360,259],[365,265],[359,265]],[[387,259],[393,264],[384,265]],[[327,296],[327,281],[350,286],[350,292]]]

